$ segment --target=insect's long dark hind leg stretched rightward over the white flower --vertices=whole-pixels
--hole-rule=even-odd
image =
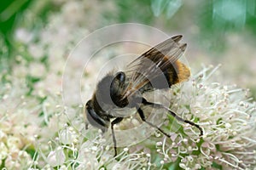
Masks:
[[[159,107],[159,108],[162,108],[162,109],[165,109],[166,111],[168,111],[168,113],[170,115],[172,115],[174,118],[176,118],[178,121],[180,122],[185,122],[185,123],[189,123],[190,125],[194,126],[194,127],[197,127],[199,130],[200,130],[200,136],[203,135],[203,130],[202,128],[198,125],[198,124],[195,124],[195,122],[191,122],[189,120],[185,120],[183,119],[182,117],[180,116],[177,116],[176,113],[174,113],[173,111],[171,111],[169,108],[166,108],[164,105],[160,105],[160,104],[155,104],[155,103],[152,103],[152,102],[148,102],[146,99],[143,98],[143,105],[154,105],[156,107]]]

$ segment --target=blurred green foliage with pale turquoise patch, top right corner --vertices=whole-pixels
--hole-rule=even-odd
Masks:
[[[256,36],[256,3],[254,1],[205,1],[199,7],[197,22],[200,26],[202,47],[212,52],[226,48],[226,35],[230,32],[251,31]]]

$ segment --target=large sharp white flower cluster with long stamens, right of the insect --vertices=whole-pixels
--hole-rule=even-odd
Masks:
[[[172,110],[198,123],[205,134],[200,139],[195,127],[184,125],[171,139],[164,137],[156,144],[163,161],[179,161],[183,169],[255,167],[256,104],[247,89],[209,80],[216,69],[205,68],[178,92],[173,88]]]

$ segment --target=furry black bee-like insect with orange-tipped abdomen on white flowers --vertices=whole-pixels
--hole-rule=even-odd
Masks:
[[[114,156],[117,156],[117,142],[113,126],[121,122],[124,117],[116,116],[112,111],[119,108],[135,107],[143,122],[169,138],[171,136],[160,127],[147,121],[142,105],[164,109],[178,121],[197,127],[200,136],[203,135],[202,128],[195,122],[184,120],[166,106],[150,102],[143,97],[145,92],[171,88],[173,84],[189,79],[189,68],[178,60],[187,47],[186,43],[180,43],[182,37],[178,35],[161,42],[128,64],[127,71],[108,73],[97,83],[95,93],[85,105],[85,114],[88,122],[102,129],[102,132],[106,132],[108,127],[111,127]]]

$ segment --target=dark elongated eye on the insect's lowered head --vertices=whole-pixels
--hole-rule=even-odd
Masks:
[[[94,127],[104,129],[108,127],[108,123],[102,119],[102,117],[96,114],[96,111],[91,107],[91,100],[85,105],[85,112],[88,122]]]

